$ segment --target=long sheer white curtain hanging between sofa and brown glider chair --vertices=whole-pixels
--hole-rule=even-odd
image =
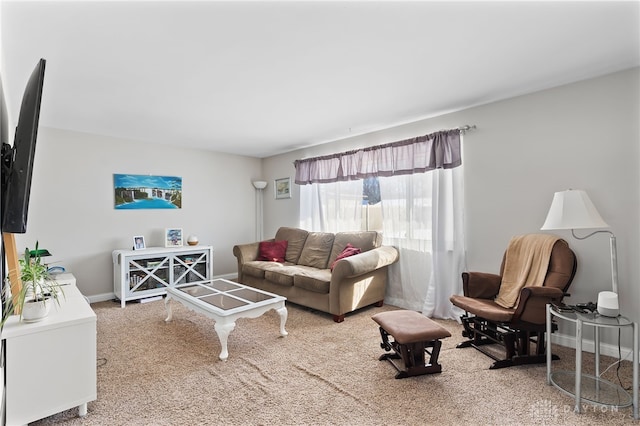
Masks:
[[[386,303],[459,318],[449,301],[465,269],[462,167],[379,179],[384,243],[398,248]]]

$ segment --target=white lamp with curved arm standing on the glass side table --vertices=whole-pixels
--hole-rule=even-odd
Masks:
[[[598,294],[598,313],[605,316],[617,317],[618,304],[618,252],[616,237],[613,232],[606,230],[594,231],[584,237],[579,237],[575,229],[608,228],[609,225],[602,220],[600,213],[583,190],[556,192],[547,214],[547,219],[542,225],[542,230],[571,229],[571,234],[578,240],[584,240],[599,233],[609,234],[611,248],[611,285],[613,291],[601,291]]]

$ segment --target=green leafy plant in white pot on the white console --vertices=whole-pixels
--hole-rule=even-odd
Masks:
[[[19,310],[20,318],[26,322],[40,321],[49,314],[51,303],[60,304],[60,286],[51,278],[47,265],[42,261],[44,251],[27,248],[24,257],[18,259],[22,287],[18,293],[13,311]]]

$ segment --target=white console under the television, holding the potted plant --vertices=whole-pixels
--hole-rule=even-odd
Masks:
[[[2,330],[7,425],[26,425],[97,398],[96,314],[72,274],[56,281],[64,296],[42,321],[24,323],[14,315]]]

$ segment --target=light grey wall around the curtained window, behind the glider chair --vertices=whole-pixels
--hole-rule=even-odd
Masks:
[[[539,232],[555,191],[584,189],[617,236],[621,311],[640,321],[639,80],[635,68],[301,149],[265,159],[264,178],[293,176],[296,159],[475,124],[463,146],[468,269],[497,272],[511,236]],[[291,200],[265,200],[265,236],[298,223],[298,189]],[[556,233],[579,262],[566,302],[596,301],[611,288],[609,238]]]

